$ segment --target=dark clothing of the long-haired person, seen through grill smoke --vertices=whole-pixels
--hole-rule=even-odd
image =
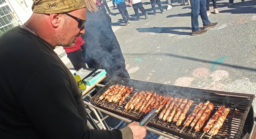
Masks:
[[[89,68],[102,68],[107,72],[107,79],[114,76],[130,78],[125,69],[125,60],[111,27],[111,18],[105,10],[87,11],[87,22],[83,56]]]

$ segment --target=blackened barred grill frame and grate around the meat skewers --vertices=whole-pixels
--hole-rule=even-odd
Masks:
[[[231,138],[232,139],[240,138],[245,119],[246,119],[249,109],[251,107],[252,101],[255,97],[254,95],[251,95],[251,94],[178,87],[178,86],[173,86],[173,85],[151,83],[151,82],[145,82],[145,81],[139,81],[139,80],[114,77],[105,85],[105,87],[103,87],[99,92],[97,92],[92,97],[92,99],[90,99],[90,101],[94,105],[98,106],[99,108],[106,109],[108,111],[111,111],[113,113],[127,117],[127,118],[135,120],[135,121],[141,121],[146,115],[142,114],[142,116],[140,118],[138,118],[138,116],[136,116],[137,111],[135,111],[135,114],[132,114],[132,112],[130,112],[130,113],[126,112],[126,113],[121,114],[123,111],[123,108],[121,106],[118,106],[117,103],[114,104],[111,108],[109,108],[109,106],[111,106],[112,103],[109,103],[107,101],[105,101],[104,103],[102,103],[102,101],[99,101],[97,103],[100,95],[102,95],[113,84],[129,85],[130,87],[134,87],[134,90],[145,90],[145,91],[152,90],[159,94],[165,94],[165,95],[169,95],[169,93],[166,93],[166,92],[169,92],[170,90],[172,90],[173,92],[170,95],[172,95],[173,97],[182,97],[183,96],[182,98],[186,97],[186,98],[194,101],[193,105],[191,106],[192,108],[190,108],[190,110],[188,111],[186,116],[188,116],[193,111],[195,105],[199,104],[200,102],[206,102],[207,100],[209,100],[211,103],[214,103],[214,106],[215,106],[213,112],[211,112],[211,115],[210,115],[210,117],[211,117],[215,113],[215,111],[218,109],[217,105],[220,106],[220,104],[219,104],[220,100],[228,99],[229,101],[225,102],[225,106],[226,106],[226,108],[228,108],[228,107],[231,108],[231,111],[228,114],[227,119],[225,120],[225,122],[223,124],[223,127],[226,127],[226,126],[231,127],[231,124],[235,124],[235,125],[237,124],[238,129],[234,130],[234,127],[231,128],[234,132],[236,132],[236,133],[232,133],[233,135],[231,135],[231,132],[228,132],[228,136],[225,134],[223,134],[223,135],[217,134],[218,136],[217,135],[212,136],[212,138],[215,138],[215,139],[219,139],[219,138],[224,139],[226,137],[230,138],[230,139]],[[134,94],[134,92],[135,91],[133,91],[133,93],[131,93],[129,95],[129,99],[126,99],[122,105],[126,104],[130,100],[130,97]],[[195,92],[196,92],[196,94],[195,94]],[[232,101],[230,101],[230,100],[232,100]],[[243,101],[243,102],[241,102],[241,101]],[[239,105],[237,105],[235,103],[231,104],[231,102],[232,103],[236,102],[236,103],[240,103],[240,104]],[[238,108],[238,110],[240,110],[240,111],[236,111],[235,108]],[[236,115],[234,115],[234,114],[236,114]],[[235,116],[235,118],[237,118],[237,117],[241,117],[241,118],[237,118],[238,120],[234,121],[233,115]],[[158,115],[148,124],[148,126],[154,127],[163,132],[167,132],[169,134],[172,134],[173,136],[178,136],[180,138],[195,139],[195,138],[200,138],[200,135],[203,132],[202,131],[203,128],[202,128],[201,132],[197,132],[197,136],[193,137],[192,134],[187,133],[188,132],[187,130],[189,130],[190,127],[186,127],[188,129],[185,128],[185,130],[184,130],[185,132],[179,133],[179,130],[182,129],[182,126],[178,128],[178,131],[174,131],[175,124],[171,128],[164,126],[163,125],[164,123],[162,123],[161,125],[155,124],[154,122],[156,122],[158,120],[157,117],[158,117]],[[232,121],[232,119],[233,119],[233,121]],[[206,121],[206,123],[208,122],[208,120]],[[233,122],[233,123],[231,123],[231,122]],[[238,123],[240,123],[240,124],[238,124]],[[220,133],[224,132],[225,128],[223,129],[223,127],[220,129]],[[195,130],[193,129],[191,131],[191,133],[194,133],[194,131]],[[209,135],[208,136],[205,135],[203,138],[208,139]]]

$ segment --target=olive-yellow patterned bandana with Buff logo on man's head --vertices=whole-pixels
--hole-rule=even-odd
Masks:
[[[34,13],[56,14],[84,8],[84,0],[35,0],[32,5]]]

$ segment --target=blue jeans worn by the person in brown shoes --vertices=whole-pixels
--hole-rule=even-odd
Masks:
[[[191,4],[191,26],[192,31],[199,30],[198,24],[198,13],[200,12],[200,16],[203,22],[203,25],[206,26],[210,24],[206,13],[206,0],[192,0],[190,1]]]

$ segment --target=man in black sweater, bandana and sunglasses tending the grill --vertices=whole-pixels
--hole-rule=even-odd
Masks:
[[[84,34],[85,7],[95,6],[88,3],[35,0],[28,21],[0,36],[1,138],[145,137],[146,127],[136,122],[121,130],[87,129],[81,90],[54,52]]]

